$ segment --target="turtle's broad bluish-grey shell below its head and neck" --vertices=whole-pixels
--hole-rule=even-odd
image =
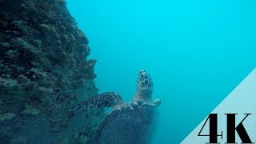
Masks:
[[[158,122],[158,109],[144,102],[130,103],[107,114],[95,140],[99,144],[148,144]]]

